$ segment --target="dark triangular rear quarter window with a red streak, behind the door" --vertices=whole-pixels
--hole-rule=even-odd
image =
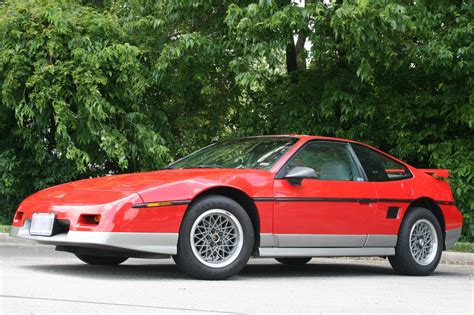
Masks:
[[[385,182],[411,178],[408,168],[385,155],[359,144],[351,144],[367,178],[371,182]]]

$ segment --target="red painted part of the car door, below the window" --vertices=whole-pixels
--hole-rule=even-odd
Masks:
[[[277,198],[373,198],[373,183],[304,179],[292,186],[275,180]],[[276,234],[368,234],[374,204],[358,201],[276,202]]]

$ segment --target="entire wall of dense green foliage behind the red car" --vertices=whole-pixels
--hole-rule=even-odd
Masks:
[[[473,21],[472,1],[3,2],[0,207],[225,137],[319,134],[450,169],[473,240]]]

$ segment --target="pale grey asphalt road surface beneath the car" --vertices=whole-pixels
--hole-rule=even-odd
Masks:
[[[313,259],[287,267],[254,259],[237,277],[200,281],[171,259],[88,266],[51,247],[0,244],[0,313],[474,312],[472,265],[429,277],[387,261]]]

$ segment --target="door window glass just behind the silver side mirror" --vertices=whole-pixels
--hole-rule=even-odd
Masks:
[[[287,164],[287,171],[296,166],[314,169],[316,179],[362,181],[348,145],[340,142],[315,141],[305,145]]]

